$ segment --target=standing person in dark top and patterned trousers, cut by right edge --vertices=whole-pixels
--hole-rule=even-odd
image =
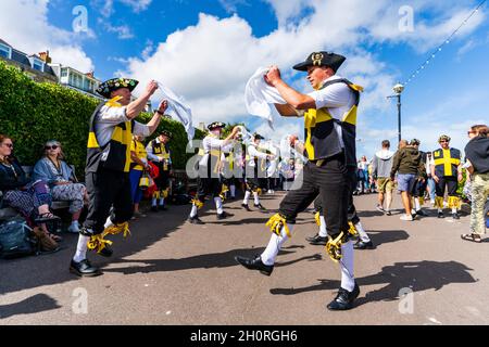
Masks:
[[[473,126],[468,130],[471,141],[465,146],[467,170],[471,174],[471,233],[462,239],[480,243],[486,233],[485,204],[489,196],[489,128],[486,125]]]

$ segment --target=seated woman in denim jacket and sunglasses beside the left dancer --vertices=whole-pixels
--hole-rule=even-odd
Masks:
[[[64,160],[59,141],[46,142],[43,157],[34,166],[34,180],[47,182],[53,200],[70,203],[72,224],[68,232],[79,233],[78,219],[85,203],[88,203],[87,189],[78,183],[73,169]]]

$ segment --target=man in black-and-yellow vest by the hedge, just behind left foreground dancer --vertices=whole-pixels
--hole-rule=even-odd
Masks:
[[[148,158],[158,166],[160,175],[155,179],[158,190],[153,193],[151,200],[151,210],[166,210],[165,198],[168,196],[170,176],[172,172],[172,157],[168,142],[172,139],[172,132],[167,130],[161,131],[160,136],[150,141],[146,151]]]

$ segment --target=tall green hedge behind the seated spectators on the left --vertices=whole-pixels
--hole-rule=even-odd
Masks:
[[[0,133],[14,140],[15,155],[23,165],[34,165],[46,141],[63,144],[66,160],[76,166],[78,178],[85,172],[88,120],[99,101],[52,83],[38,83],[17,67],[0,61]],[[151,115],[138,120],[146,123]],[[163,119],[160,129],[175,134],[171,143],[176,169],[185,168],[187,136],[181,124]],[[203,133],[196,131],[196,138]]]

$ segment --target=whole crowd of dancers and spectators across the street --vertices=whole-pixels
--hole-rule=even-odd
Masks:
[[[354,278],[353,250],[374,246],[356,215],[353,195],[377,191],[376,208],[389,216],[397,189],[404,207],[403,221],[426,216],[423,205],[427,197],[437,208],[438,218],[446,217],[443,210],[448,207],[451,217],[459,219],[457,188],[466,180],[472,216],[469,233],[462,234],[462,239],[474,242],[480,242],[486,231],[484,214],[489,195],[489,139],[488,127],[484,125],[468,130],[465,162],[462,152],[450,146],[448,136],[441,136],[440,147],[428,153],[419,151],[421,141],[416,139],[402,140],[396,153],[385,140],[371,162],[365,156],[358,162],[356,112],[363,88],[337,75],[344,60],[331,52],[313,52],[293,66],[306,73],[314,89],[306,94],[286,83],[277,66],[269,67],[264,76],[267,86],[285,100],[285,104],[275,104],[278,113],[284,117],[304,117],[304,141],[292,134],[288,138],[288,145],[305,158],[304,163],[297,158],[283,162],[277,153],[262,146],[264,139],[258,133],[243,141],[243,129],[239,126],[223,139],[226,125],[212,123],[198,154],[195,167],[198,191],[188,216],[189,223],[204,223],[199,209],[211,195],[217,220],[231,217],[225,211],[224,201],[226,196],[236,197],[236,188],[241,183],[242,208],[251,210],[252,197],[254,208],[265,213],[260,195],[263,189],[273,193],[280,171],[283,180],[293,181],[296,187],[288,191],[278,213],[266,223],[272,231],[271,240],[262,254],[253,258],[238,256],[236,261],[271,275],[280,248],[292,235],[298,214],[314,203],[318,232],[308,240],[326,246],[328,256],[340,268],[341,284],[327,305],[329,310],[354,306],[360,287]],[[127,236],[129,220],[146,217],[139,207],[145,194],[151,200],[151,211],[166,209],[173,170],[168,143],[173,136],[164,130],[147,144],[145,139],[154,133],[168,103],[162,101],[147,125],[136,121],[159,89],[155,81],[150,81],[141,95],[133,100],[131,91],[137,85],[133,79],[116,78],[99,87],[98,92],[109,101],[102,102],[90,118],[85,183],[73,175],[60,142],[45,144],[43,157],[36,164],[33,177],[27,178],[12,155],[12,139],[0,136],[0,190],[4,205],[18,210],[38,228],[45,243],[55,248],[60,239],[48,230],[47,222],[59,217],[50,205],[52,200],[70,202],[68,231],[79,233],[70,271],[79,277],[101,274],[88,260],[87,252],[111,257],[113,241],[106,236],[121,233]],[[274,160],[281,163],[271,166]],[[464,176],[464,170],[468,175]],[[80,226],[84,206],[87,217]],[[358,242],[353,244],[355,236]]]

